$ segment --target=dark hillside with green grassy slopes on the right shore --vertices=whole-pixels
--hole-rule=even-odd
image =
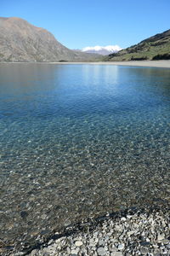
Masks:
[[[103,61],[141,61],[170,59],[170,29],[156,34],[116,54],[104,57]]]

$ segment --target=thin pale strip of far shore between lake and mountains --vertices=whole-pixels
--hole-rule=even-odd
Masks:
[[[170,68],[170,60],[162,61],[99,61],[99,62],[0,62],[0,64],[113,65],[129,67]]]

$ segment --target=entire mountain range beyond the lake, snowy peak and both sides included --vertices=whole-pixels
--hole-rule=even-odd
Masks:
[[[71,50],[60,44],[52,33],[33,26],[26,20],[0,17],[0,62],[161,59],[170,59],[170,30],[156,34],[127,49],[121,49],[118,45],[109,45]]]

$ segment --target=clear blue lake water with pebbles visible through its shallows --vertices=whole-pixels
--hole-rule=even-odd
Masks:
[[[169,128],[169,69],[1,64],[3,244],[167,204]]]

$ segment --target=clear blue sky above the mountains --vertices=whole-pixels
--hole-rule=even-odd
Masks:
[[[44,27],[70,49],[126,48],[170,29],[170,0],[0,0],[0,16]]]

